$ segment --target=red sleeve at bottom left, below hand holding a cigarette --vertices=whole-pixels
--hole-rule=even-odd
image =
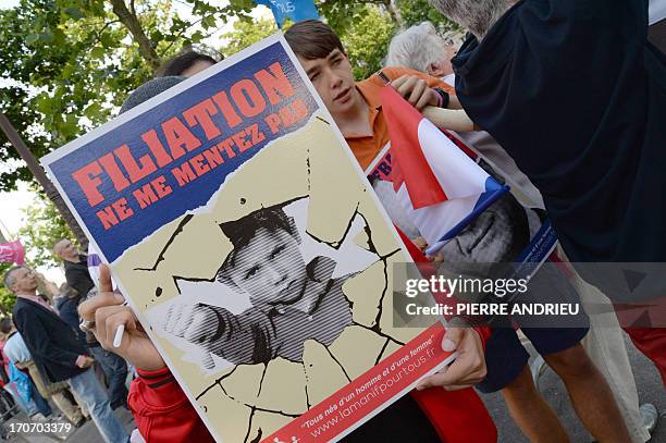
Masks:
[[[130,386],[128,405],[139,433],[150,443],[214,443],[169,368],[138,370]]]

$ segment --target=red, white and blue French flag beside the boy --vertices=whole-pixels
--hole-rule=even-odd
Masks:
[[[392,87],[384,87],[380,97],[391,138],[378,158],[388,158],[391,163],[391,173],[384,179],[393,182],[407,216],[429,244],[427,254],[433,256],[508,187],[474,163]]]

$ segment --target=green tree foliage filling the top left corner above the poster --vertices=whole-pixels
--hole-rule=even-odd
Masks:
[[[192,19],[169,0],[21,0],[0,10],[0,111],[36,157],[106,122],[162,60],[254,5],[182,3]],[[0,133],[0,161],[16,158]],[[20,180],[32,180],[26,168],[3,172],[0,190]]]

